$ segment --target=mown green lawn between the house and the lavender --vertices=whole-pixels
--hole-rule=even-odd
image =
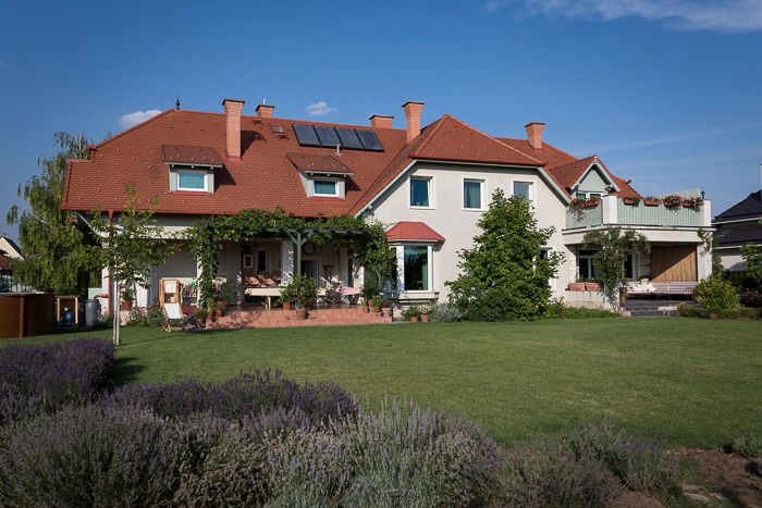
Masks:
[[[220,380],[253,369],[334,380],[373,404],[384,394],[430,404],[480,422],[503,443],[603,419],[665,432],[673,445],[712,447],[762,433],[760,321],[597,319],[172,334],[124,329],[118,380]]]

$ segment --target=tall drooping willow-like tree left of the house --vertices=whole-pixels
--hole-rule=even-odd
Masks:
[[[19,197],[28,210],[19,213],[13,206],[8,223],[19,224],[23,260],[13,260],[16,282],[41,292],[86,295],[95,267],[86,256],[88,239],[75,227],[76,214],[61,210],[66,164],[72,159],[87,159],[89,140],[82,134],[57,133],[54,145],[60,151],[39,158],[40,174],[19,186]]]

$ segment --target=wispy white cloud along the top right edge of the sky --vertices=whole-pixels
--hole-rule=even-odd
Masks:
[[[685,30],[724,33],[762,29],[762,0],[512,0],[521,14],[560,15],[592,20],[638,16],[661,21]],[[505,5],[505,0],[488,0],[487,11]]]

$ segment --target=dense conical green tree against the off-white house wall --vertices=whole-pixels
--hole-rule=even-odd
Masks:
[[[478,226],[482,233],[474,238],[474,248],[459,252],[460,277],[446,283],[453,300],[470,319],[542,314],[551,297],[548,282],[564,259],[558,252],[546,257],[541,252],[555,230],[538,228],[529,201],[520,196],[506,198],[501,189],[492,195]],[[490,302],[491,310],[482,309],[483,302]]]

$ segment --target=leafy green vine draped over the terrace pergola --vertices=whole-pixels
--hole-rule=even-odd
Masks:
[[[377,281],[385,282],[392,273],[394,255],[389,248],[386,232],[379,222],[341,216],[300,218],[278,208],[274,211],[248,209],[235,215],[211,215],[185,232],[190,252],[201,269],[199,302],[213,305],[212,292],[222,241],[241,241],[262,237],[290,237],[306,234],[318,246],[343,238],[357,246],[358,259]],[[299,248],[300,246],[296,246]]]

